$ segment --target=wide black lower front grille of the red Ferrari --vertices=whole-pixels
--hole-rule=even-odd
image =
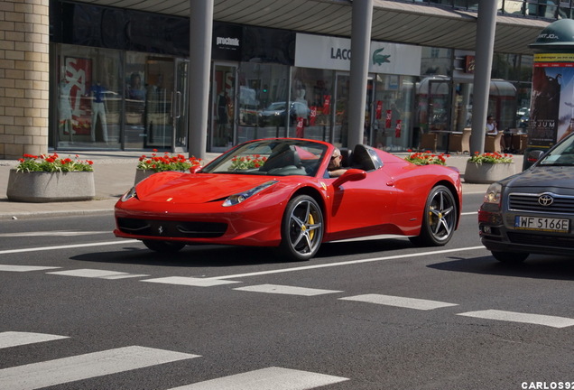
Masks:
[[[138,236],[215,238],[225,234],[227,224],[222,222],[117,218],[117,228],[126,234]]]

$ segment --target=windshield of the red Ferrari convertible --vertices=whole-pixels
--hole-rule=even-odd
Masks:
[[[242,144],[209,163],[202,173],[315,176],[326,144],[273,139]]]

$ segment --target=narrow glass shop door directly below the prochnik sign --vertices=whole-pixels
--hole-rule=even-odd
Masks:
[[[211,152],[225,152],[235,142],[236,72],[234,64],[216,63],[211,82]]]

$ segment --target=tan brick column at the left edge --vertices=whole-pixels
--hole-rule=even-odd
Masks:
[[[49,0],[0,2],[0,158],[48,153]]]

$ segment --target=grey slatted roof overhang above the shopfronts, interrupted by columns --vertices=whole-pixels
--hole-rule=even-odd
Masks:
[[[190,0],[79,0],[133,10],[188,17]],[[214,20],[349,37],[350,0],[214,0]],[[529,44],[550,22],[497,15],[495,52],[532,54]],[[477,13],[438,5],[374,0],[374,41],[474,51]]]

